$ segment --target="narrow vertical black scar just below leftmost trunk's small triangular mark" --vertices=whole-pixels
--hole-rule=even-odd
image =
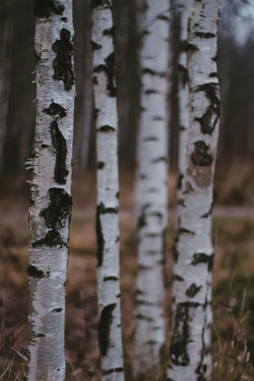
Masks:
[[[50,124],[51,138],[56,151],[55,167],[54,167],[54,180],[58,184],[65,184],[66,178],[69,171],[66,168],[66,155],[67,155],[67,145],[66,140],[63,137],[61,131],[59,130],[56,121]]]

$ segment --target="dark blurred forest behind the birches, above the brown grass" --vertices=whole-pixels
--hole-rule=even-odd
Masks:
[[[136,131],[139,117],[137,41],[139,15],[137,0],[114,0],[116,26],[119,160],[121,168],[132,170],[136,163]],[[1,25],[1,137],[3,155],[0,166],[5,175],[22,174],[30,157],[35,131],[35,57],[33,0],[2,0]],[[74,2],[75,72],[77,100],[74,125],[73,159],[76,172],[85,172],[95,163],[95,134],[92,128],[93,92],[91,83],[92,52],[90,1]],[[177,164],[178,151],[178,65],[179,19],[173,12],[171,26],[172,86],[170,94],[170,163]],[[221,83],[221,119],[219,162],[236,157],[252,158],[254,154],[254,75],[253,59],[254,7],[242,0],[225,0],[221,13],[218,42],[218,68]]]

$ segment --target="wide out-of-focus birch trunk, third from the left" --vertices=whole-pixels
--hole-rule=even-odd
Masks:
[[[168,0],[147,0],[141,48],[141,117],[138,137],[138,275],[134,372],[159,365],[165,341],[164,255],[167,228]]]

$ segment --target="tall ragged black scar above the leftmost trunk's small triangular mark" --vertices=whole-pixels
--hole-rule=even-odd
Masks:
[[[75,83],[75,76],[72,62],[73,43],[71,42],[71,32],[68,29],[61,30],[60,39],[54,42],[52,49],[56,53],[53,61],[53,78],[57,81],[62,80],[65,89],[71,90]]]

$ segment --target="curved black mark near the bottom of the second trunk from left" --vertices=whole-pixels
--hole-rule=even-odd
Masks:
[[[98,327],[98,341],[100,347],[100,353],[102,356],[106,356],[109,343],[110,343],[110,328],[112,324],[112,312],[116,304],[109,304],[104,307],[101,313],[99,327]]]

